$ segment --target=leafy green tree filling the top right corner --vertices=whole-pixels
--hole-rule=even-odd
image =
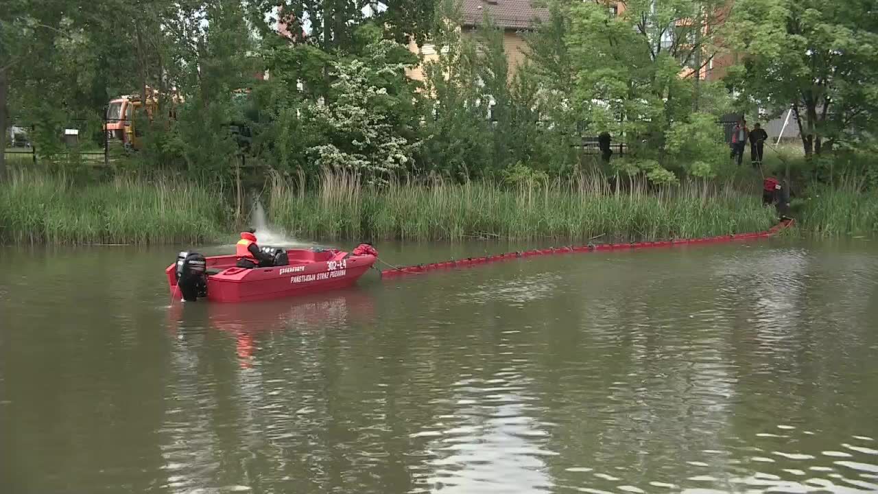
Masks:
[[[738,0],[729,39],[745,57],[730,73],[742,98],[773,115],[792,107],[807,155],[873,139],[878,124],[874,2]]]

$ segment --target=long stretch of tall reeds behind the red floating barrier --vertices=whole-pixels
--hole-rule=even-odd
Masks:
[[[346,175],[327,175],[322,182],[320,193],[305,193],[276,179],[271,221],[301,238],[373,241],[654,240],[756,231],[775,221],[774,212],[752,195],[725,191],[702,199],[701,186],[656,193],[647,192],[645,184],[615,193],[600,176],[512,188],[434,180],[393,184],[380,192]]]

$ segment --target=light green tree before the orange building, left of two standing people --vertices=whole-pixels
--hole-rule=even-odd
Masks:
[[[572,95],[592,133],[618,125],[631,149],[663,159],[667,128],[715,91],[697,75],[722,49],[725,4],[631,0],[618,15],[602,1],[572,4]]]

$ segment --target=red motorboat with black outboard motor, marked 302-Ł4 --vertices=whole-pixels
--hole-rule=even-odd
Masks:
[[[270,249],[270,248],[269,248]],[[264,249],[263,249],[264,250]],[[176,263],[165,269],[170,293],[195,301],[260,301],[349,287],[366,272],[377,252],[363,246],[355,253],[335,249],[277,250],[271,267],[236,267],[236,256],[204,257],[180,252]]]

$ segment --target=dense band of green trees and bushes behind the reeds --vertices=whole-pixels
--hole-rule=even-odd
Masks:
[[[232,179],[238,207],[241,185],[266,171],[296,177],[302,191],[327,171],[363,187],[428,177],[545,188],[578,176],[584,141],[607,131],[628,148],[608,166],[594,158],[589,172],[613,176],[595,191],[665,197],[696,187],[705,202],[761,179],[726,158],[716,124],[731,108],[726,88],[695,76],[731,44],[745,59],[727,81],[742,90],[737,104],[777,113],[798,103],[806,141],[833,149],[788,159],[769,147],[760,172],[878,185],[869,155],[878,152],[878,43],[866,2],[740,0],[724,26],[725,0],[631,0],[618,16],[601,2],[547,4],[549,16],[522,34],[529,56],[513,73],[508,33],[490,18],[461,30],[456,0],[403,0],[373,15],[352,0],[106,0],[89,10],[8,0],[0,127],[10,110],[36,127],[40,159],[80,173],[89,164],[81,151],[102,142],[106,102],[152,92],[159,111],[140,112],[142,145],[116,167]],[[290,35],[277,34],[278,19]],[[419,60],[410,40],[435,55]],[[407,77],[418,62],[423,83]],[[63,146],[65,127],[80,128],[81,149]]]

